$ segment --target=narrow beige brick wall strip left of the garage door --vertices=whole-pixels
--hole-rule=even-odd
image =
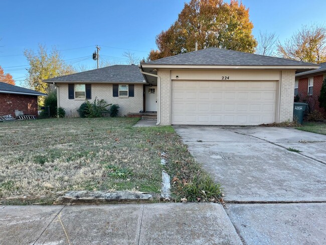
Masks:
[[[160,125],[171,125],[171,77],[170,70],[158,70],[160,76]]]

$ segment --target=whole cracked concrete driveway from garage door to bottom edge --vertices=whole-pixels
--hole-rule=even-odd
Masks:
[[[246,244],[326,243],[326,136],[288,128],[175,129],[223,185]]]

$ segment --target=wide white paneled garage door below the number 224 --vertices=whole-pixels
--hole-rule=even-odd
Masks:
[[[276,81],[172,81],[173,125],[275,121]]]

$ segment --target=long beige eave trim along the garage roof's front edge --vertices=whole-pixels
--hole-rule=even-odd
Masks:
[[[143,68],[162,69],[273,69],[273,70],[311,70],[318,65],[169,65],[169,64],[141,64]]]

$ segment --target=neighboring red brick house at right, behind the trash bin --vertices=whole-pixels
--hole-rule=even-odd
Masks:
[[[295,74],[294,96],[300,101],[306,101],[311,110],[318,110],[326,115],[326,111],[319,107],[318,97],[323,80],[326,78],[326,62],[321,63],[318,69]]]

